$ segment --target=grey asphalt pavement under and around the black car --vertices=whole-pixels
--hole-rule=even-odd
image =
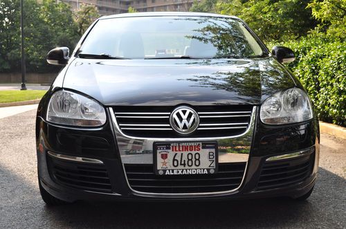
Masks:
[[[38,185],[35,110],[0,119],[0,228],[346,228],[346,141],[322,135],[308,201],[76,203],[48,208]]]

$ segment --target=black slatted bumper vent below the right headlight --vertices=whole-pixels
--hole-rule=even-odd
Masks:
[[[313,170],[314,154],[282,161],[266,161],[257,190],[287,187],[304,181]]]

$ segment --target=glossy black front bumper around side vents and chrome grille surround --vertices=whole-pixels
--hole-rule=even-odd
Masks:
[[[124,170],[120,149],[116,143],[115,128],[111,122],[98,129],[71,129],[48,124],[37,117],[37,162],[39,181],[45,190],[58,199],[76,201],[98,200],[190,200],[190,199],[239,199],[269,196],[301,196],[313,187],[318,168],[319,145],[316,121],[288,127],[266,127],[260,122],[253,123],[251,152],[241,185],[229,192],[208,192],[203,194],[155,194],[136,192],[131,189]],[[119,142],[119,140],[118,140]],[[299,182],[261,190],[259,182],[262,168],[270,157],[311,149],[311,172]],[[102,161],[110,182],[109,192],[83,190],[57,182],[54,178],[48,151],[93,158]],[[59,160],[59,159],[57,159]],[[288,159],[287,159],[288,160]],[[286,160],[286,161],[287,161]]]

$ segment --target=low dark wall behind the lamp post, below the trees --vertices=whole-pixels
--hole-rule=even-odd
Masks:
[[[26,73],[28,84],[51,84],[57,73]],[[20,83],[21,73],[0,73],[0,84]]]

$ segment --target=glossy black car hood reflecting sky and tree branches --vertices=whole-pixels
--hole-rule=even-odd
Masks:
[[[73,59],[64,89],[105,106],[261,104],[295,79],[266,59]]]

